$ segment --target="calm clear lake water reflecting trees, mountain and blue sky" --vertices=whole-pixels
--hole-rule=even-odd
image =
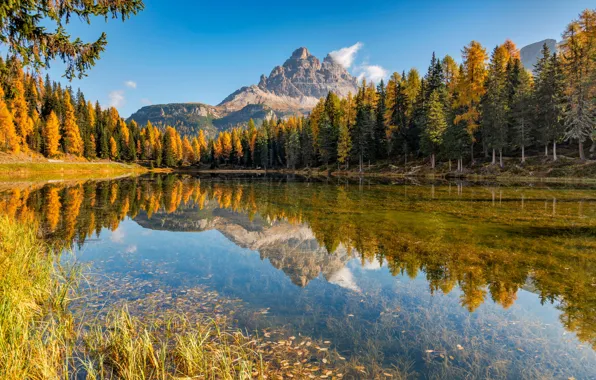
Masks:
[[[15,185],[0,209],[75,248],[90,310],[201,287],[260,316],[240,327],[415,377],[596,378],[590,188],[169,175]]]

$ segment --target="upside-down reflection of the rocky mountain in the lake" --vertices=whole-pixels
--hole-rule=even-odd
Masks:
[[[217,230],[237,246],[259,252],[262,260],[269,260],[298,286],[306,286],[323,275],[329,282],[358,290],[344,268],[352,256],[342,245],[329,254],[307,224],[270,222],[258,214],[249,218],[246,214],[220,208],[216,201],[207,202],[202,209],[195,206],[173,213],[158,211],[151,218],[140,212],[134,220],[153,230]]]

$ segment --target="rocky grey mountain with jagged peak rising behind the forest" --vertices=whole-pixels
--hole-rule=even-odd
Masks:
[[[323,62],[308,49],[296,49],[283,65],[273,68],[259,83],[238,89],[217,106],[202,103],[156,104],[141,108],[129,120],[159,127],[171,125],[183,134],[205,129],[213,134],[249,119],[259,122],[273,117],[308,113],[330,91],[340,96],[355,94],[355,77],[327,55]]]

